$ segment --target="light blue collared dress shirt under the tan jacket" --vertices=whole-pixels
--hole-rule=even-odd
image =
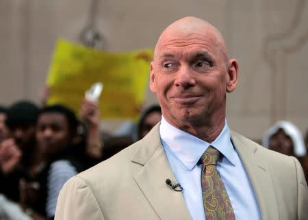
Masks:
[[[209,143],[175,128],[164,117],[159,126],[162,144],[177,180],[183,187],[183,197],[194,220],[204,220],[201,189],[202,164],[197,164]],[[220,135],[211,143],[223,156],[217,170],[227,189],[237,220],[261,219],[257,198],[240,156],[233,148],[227,121]]]

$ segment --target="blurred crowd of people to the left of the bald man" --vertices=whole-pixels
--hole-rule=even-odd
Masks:
[[[0,107],[0,219],[53,219],[66,180],[141,139],[161,119],[153,105],[119,136],[99,130],[97,102],[82,100],[79,115],[29,100]]]

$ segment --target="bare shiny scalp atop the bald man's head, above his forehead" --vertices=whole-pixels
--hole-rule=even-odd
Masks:
[[[207,38],[212,46],[216,48],[224,57],[224,61],[229,61],[229,53],[224,44],[221,33],[205,20],[196,17],[181,18],[169,25],[160,35],[154,51],[154,59],[157,52],[169,45],[173,40],[188,40],[198,37]]]

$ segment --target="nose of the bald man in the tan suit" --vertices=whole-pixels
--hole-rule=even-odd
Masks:
[[[193,72],[188,66],[181,66],[175,77],[175,85],[177,87],[187,88],[194,87],[196,85]]]

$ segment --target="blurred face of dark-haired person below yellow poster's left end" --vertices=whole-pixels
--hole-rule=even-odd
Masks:
[[[67,148],[72,135],[66,117],[62,113],[42,113],[36,124],[36,141],[47,158]]]

